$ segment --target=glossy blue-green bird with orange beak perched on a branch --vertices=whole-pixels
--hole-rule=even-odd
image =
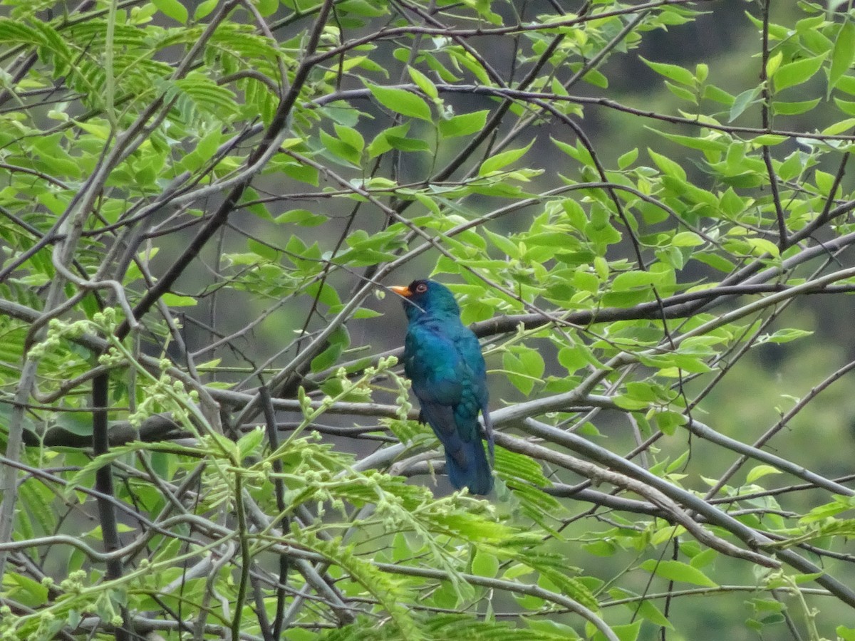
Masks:
[[[445,446],[451,485],[488,494],[492,473],[481,444],[478,412],[484,416],[491,460],[492,423],[478,338],[460,321],[460,308],[445,285],[414,280],[391,289],[404,297],[410,321],[404,339],[404,372],[422,406],[419,420],[428,423]]]

